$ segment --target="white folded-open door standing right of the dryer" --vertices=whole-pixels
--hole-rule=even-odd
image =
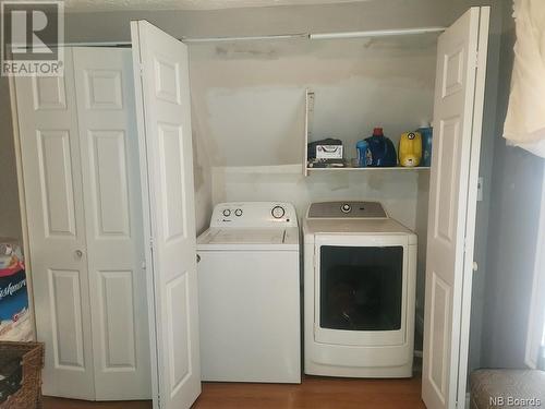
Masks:
[[[483,106],[476,91],[486,70],[477,51],[486,56],[488,15],[489,8],[470,9],[437,47],[422,374],[429,409],[464,405]]]

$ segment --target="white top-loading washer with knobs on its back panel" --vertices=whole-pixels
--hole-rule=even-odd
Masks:
[[[300,246],[289,203],[221,203],[197,239],[203,381],[301,382]]]

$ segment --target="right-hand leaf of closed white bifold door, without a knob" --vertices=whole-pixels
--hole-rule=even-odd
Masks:
[[[97,400],[149,399],[132,53],[74,48]]]

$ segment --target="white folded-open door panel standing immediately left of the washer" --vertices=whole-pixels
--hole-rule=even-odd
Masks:
[[[201,393],[196,232],[187,49],[131,23],[150,305],[154,404],[190,408]]]

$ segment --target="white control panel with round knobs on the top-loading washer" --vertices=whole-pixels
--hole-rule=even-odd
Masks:
[[[291,203],[228,202],[214,207],[210,227],[267,228],[296,227],[298,216]]]

